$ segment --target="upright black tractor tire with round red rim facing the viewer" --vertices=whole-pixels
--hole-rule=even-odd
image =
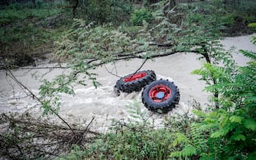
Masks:
[[[168,80],[157,80],[147,85],[142,94],[142,103],[148,110],[166,114],[180,101],[177,85]]]

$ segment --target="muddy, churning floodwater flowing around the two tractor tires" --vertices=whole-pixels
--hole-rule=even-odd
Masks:
[[[236,46],[237,52],[240,49],[256,51],[256,47],[250,43],[249,36],[245,37],[228,37],[222,41],[228,49],[231,46]],[[173,108],[168,114],[153,113],[141,103],[141,91],[131,94],[122,93],[117,97],[113,87],[118,77],[111,75],[107,70],[112,70],[115,74],[124,76],[136,71],[142,64],[142,59],[131,59],[131,61],[118,61],[114,64],[107,64],[99,67],[93,72],[98,74],[97,80],[102,84],[99,88],[94,88],[91,82],[88,85],[76,85],[74,91],[75,96],[62,94],[62,106],[60,107],[60,115],[67,121],[73,119],[84,119],[89,122],[92,117],[96,117],[93,122],[95,130],[105,132],[109,127],[112,119],[127,120],[131,117],[128,110],[138,104],[142,111],[145,112],[149,120],[154,120],[156,126],[161,126],[164,117],[171,114],[184,114],[191,112],[193,101],[199,102],[203,107],[208,103],[209,94],[203,91],[205,83],[199,81],[198,75],[191,75],[194,69],[199,69],[203,61],[197,60],[199,56],[194,53],[177,53],[170,56],[160,57],[154,61],[147,60],[141,70],[154,70],[157,74],[157,79],[169,79],[180,89],[180,104]],[[244,56],[234,53],[234,58],[238,65],[245,65],[248,59]],[[51,66],[48,64],[44,66]],[[43,75],[49,69],[33,69],[13,70],[13,74],[27,86],[34,94],[38,94],[38,88],[41,85],[39,79],[31,78],[31,74],[37,73]],[[55,75],[63,72],[62,69],[55,69],[44,78],[52,79]],[[40,111],[37,101],[27,97],[21,88],[5,75],[5,72],[0,71],[0,113],[7,111],[24,112],[28,109],[34,110],[35,113]]]

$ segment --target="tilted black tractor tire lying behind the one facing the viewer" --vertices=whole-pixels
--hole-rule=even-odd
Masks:
[[[141,91],[144,86],[154,82],[157,79],[152,70],[140,71],[135,74],[125,75],[116,82],[116,88],[119,91],[131,93],[132,91]]]

